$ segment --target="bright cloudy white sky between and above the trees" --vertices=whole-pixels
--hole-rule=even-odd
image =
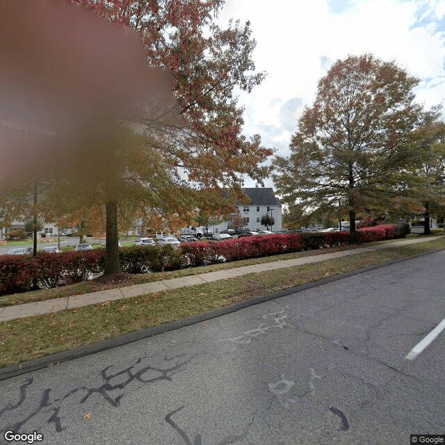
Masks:
[[[267,72],[261,86],[240,95],[244,133],[259,133],[277,154],[289,154],[318,80],[350,54],[395,60],[418,76],[417,101],[427,108],[445,99],[445,0],[227,0],[220,21],[230,17],[250,20],[254,62]]]

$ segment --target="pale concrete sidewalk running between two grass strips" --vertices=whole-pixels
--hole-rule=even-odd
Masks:
[[[64,309],[73,309],[75,307],[94,305],[100,302],[120,300],[120,298],[136,297],[147,293],[168,291],[168,289],[195,286],[195,284],[211,283],[218,280],[225,280],[227,278],[247,275],[248,273],[259,273],[266,272],[267,270],[277,270],[293,266],[300,266],[302,264],[319,263],[327,259],[348,257],[350,255],[355,255],[363,252],[372,252],[373,250],[387,249],[399,245],[424,243],[426,241],[432,241],[444,237],[445,235],[439,235],[420,239],[404,239],[401,241],[398,240],[382,245],[373,245],[366,248],[343,250],[341,252],[318,254],[311,257],[286,259],[283,261],[273,261],[271,257],[272,261],[270,261],[269,263],[254,264],[252,266],[243,266],[227,270],[218,270],[217,272],[201,273],[181,278],[172,278],[171,280],[156,281],[145,284],[134,284],[133,286],[124,286],[115,289],[108,289],[106,291],[84,293],[82,295],[71,297],[54,298],[52,300],[26,303],[24,305],[0,307],[0,322],[33,315],[49,314],[51,312],[58,312]]]

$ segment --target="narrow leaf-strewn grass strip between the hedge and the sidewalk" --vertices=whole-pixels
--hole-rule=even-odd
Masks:
[[[425,238],[422,235],[416,235],[412,238]],[[39,291],[29,291],[23,293],[14,293],[12,295],[0,296],[0,307],[22,305],[24,303],[52,300],[54,298],[64,298],[82,293],[90,293],[95,291],[104,291],[106,289],[115,289],[116,287],[131,286],[131,284],[143,284],[154,281],[169,280],[170,278],[188,277],[201,273],[216,272],[218,270],[227,270],[243,266],[251,266],[254,264],[270,263],[273,261],[282,261],[285,259],[312,257],[330,252],[340,252],[342,250],[351,250],[359,247],[372,247],[373,245],[382,245],[393,243],[394,240],[379,241],[377,243],[366,243],[363,245],[342,245],[336,248],[309,250],[308,252],[293,252],[287,254],[273,255],[270,257],[245,259],[242,261],[231,261],[223,264],[213,264],[210,266],[202,266],[196,268],[186,268],[181,270],[172,270],[170,272],[145,273],[145,274],[127,274],[127,277],[114,279],[111,277],[109,281],[102,282],[99,280],[91,280],[69,286],[57,287],[54,289],[40,289]],[[443,240],[442,240],[443,242]]]

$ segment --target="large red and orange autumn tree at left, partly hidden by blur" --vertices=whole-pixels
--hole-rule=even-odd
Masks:
[[[255,72],[250,24],[216,24],[222,0],[72,3],[136,31],[144,63],[172,73],[180,117],[165,124],[162,109],[157,115],[145,115],[143,107],[126,113],[119,130],[105,128],[111,132],[100,141],[106,155],[98,165],[83,162],[82,154],[88,159],[83,147],[76,159],[81,175],[58,181],[42,204],[45,216],[54,220],[86,220],[96,232],[103,232],[106,223],[106,273],[114,273],[118,225],[126,232],[136,218],[143,218],[151,229],[177,229],[187,225],[198,207],[228,215],[242,196],[244,175],[260,182],[266,177],[270,168],[261,164],[273,150],[261,147],[259,135],[243,136],[243,108],[236,97],[236,90],[250,92],[264,74]],[[116,54],[119,63],[123,56]],[[98,152],[94,126],[88,130],[86,147]],[[223,196],[222,188],[232,193]]]

